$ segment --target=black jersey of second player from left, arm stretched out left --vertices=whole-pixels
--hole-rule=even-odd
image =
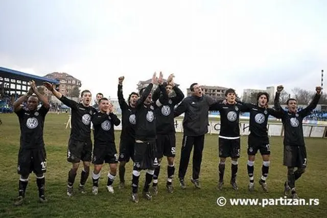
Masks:
[[[59,99],[64,105],[72,109],[71,138],[74,140],[89,140],[91,138],[91,116],[97,112],[94,107],[84,107],[83,104],[67,99]]]

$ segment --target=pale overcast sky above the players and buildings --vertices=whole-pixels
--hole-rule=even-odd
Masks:
[[[0,2],[0,66],[67,72],[82,89],[116,98],[162,70],[193,82],[314,90],[327,73],[327,1]]]

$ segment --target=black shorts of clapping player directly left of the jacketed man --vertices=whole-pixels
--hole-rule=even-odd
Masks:
[[[176,154],[176,137],[175,134],[157,135],[157,152],[158,158],[175,157]]]

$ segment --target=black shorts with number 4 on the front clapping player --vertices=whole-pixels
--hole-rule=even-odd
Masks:
[[[156,142],[135,142],[134,170],[154,169],[158,163]]]

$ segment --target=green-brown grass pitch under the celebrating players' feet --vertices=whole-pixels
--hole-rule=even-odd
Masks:
[[[202,189],[196,190],[189,178],[192,173],[192,161],[188,173],[187,189],[181,190],[175,176],[175,191],[171,195],[166,192],[167,161],[161,164],[159,176],[159,194],[153,196],[151,202],[140,195],[138,204],[129,201],[130,188],[118,189],[119,179],[114,182],[115,193],[106,191],[106,175],[108,167],[104,167],[99,185],[99,195],[91,193],[91,176],[86,188],[88,193],[76,193],[74,197],[66,196],[67,173],[71,164],[66,161],[66,148],[69,129],[65,128],[67,114],[48,114],[44,127],[46,144],[47,173],[46,197],[48,203],[37,202],[38,193],[36,179],[30,176],[26,193],[26,202],[20,207],[12,205],[18,195],[17,153],[19,148],[19,126],[15,114],[0,114],[3,124],[0,125],[0,216],[1,217],[325,217],[327,209],[327,176],[325,158],[327,157],[327,139],[306,139],[308,152],[307,172],[296,182],[300,198],[319,199],[318,206],[231,206],[228,202],[224,207],[216,204],[217,198],[280,198],[283,197],[283,184],[286,179],[286,167],[282,165],[283,146],[281,137],[271,137],[271,163],[268,176],[269,193],[264,193],[258,184],[261,176],[262,160],[259,154],[254,168],[255,191],[248,192],[248,176],[246,169],[247,138],[241,139],[241,158],[239,160],[238,184],[235,191],[229,185],[230,159],[225,170],[225,186],[222,191],[216,189],[218,181],[217,135],[207,135],[203,151],[200,181]],[[116,132],[116,144],[119,144]],[[178,172],[181,134],[177,134],[176,173]],[[192,158],[191,158],[192,160]],[[126,180],[131,178],[132,163],[127,164]],[[80,179],[79,169],[75,187]],[[175,175],[176,175],[175,173]],[[142,191],[144,173],[141,174],[139,190]]]

